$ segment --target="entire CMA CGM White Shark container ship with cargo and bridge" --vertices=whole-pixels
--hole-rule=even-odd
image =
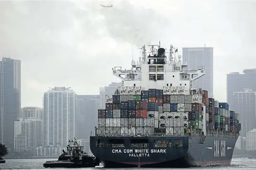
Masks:
[[[90,149],[105,168],[230,165],[239,115],[194,88],[204,67],[188,70],[177,48],[165,52],[159,44],[148,53],[144,45],[130,70],[112,71],[122,86],[106,95],[90,137]]]

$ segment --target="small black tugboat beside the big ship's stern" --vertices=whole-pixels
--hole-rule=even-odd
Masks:
[[[77,140],[74,138],[74,141],[69,143],[74,144],[67,145],[67,152],[63,151],[58,158],[58,161],[46,161],[43,164],[44,168],[95,168],[95,166],[100,165],[100,160],[95,156],[89,156],[87,152],[84,152],[84,146],[81,146],[77,143]]]

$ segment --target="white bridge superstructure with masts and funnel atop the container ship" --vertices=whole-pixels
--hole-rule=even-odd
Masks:
[[[151,46],[151,45],[150,45]],[[158,50],[152,45],[149,55],[146,55],[145,46],[141,48],[142,58],[139,62],[132,61],[132,69],[122,70],[122,67],[113,68],[113,75],[124,81],[123,86],[141,86],[145,90],[149,88],[163,89],[164,86],[184,86],[193,88],[193,81],[205,75],[204,67],[197,70],[188,70],[187,63],[181,63],[181,56],[177,48],[170,47],[169,55],[165,49],[158,46]],[[176,58],[178,56],[178,59]],[[124,77],[121,77],[124,75]]]

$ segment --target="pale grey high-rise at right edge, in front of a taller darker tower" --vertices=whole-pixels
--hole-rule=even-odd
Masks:
[[[240,136],[246,137],[246,133],[256,128],[255,92],[250,89],[234,93],[233,110],[239,114],[241,123]]]

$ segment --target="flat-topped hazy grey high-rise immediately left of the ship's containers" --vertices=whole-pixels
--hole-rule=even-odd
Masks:
[[[98,124],[100,95],[77,95],[76,138],[89,139]]]

